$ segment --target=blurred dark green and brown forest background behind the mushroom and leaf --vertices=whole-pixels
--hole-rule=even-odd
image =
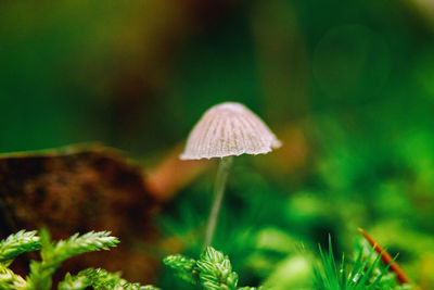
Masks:
[[[230,177],[216,247],[243,285],[308,287],[283,277],[298,248],[350,251],[357,227],[434,285],[433,1],[0,2],[1,153],[101,141],[152,164],[222,101],[284,143]],[[161,217],[192,254],[214,174]]]

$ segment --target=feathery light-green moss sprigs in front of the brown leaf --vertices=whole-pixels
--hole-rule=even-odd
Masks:
[[[47,230],[21,230],[0,241],[0,289],[2,290],[50,290],[52,276],[65,260],[78,254],[110,250],[116,247],[118,239],[111,237],[108,231],[87,232],[72,236],[67,240],[52,242]],[[30,261],[30,272],[26,278],[14,274],[9,266],[14,259],[23,253],[40,251],[40,261]],[[60,282],[60,290],[93,289],[139,290],[157,289],[152,286],[129,283],[119,274],[103,269],[85,269],[76,276],[66,274]]]

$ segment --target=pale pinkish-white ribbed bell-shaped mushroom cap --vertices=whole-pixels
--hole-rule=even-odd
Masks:
[[[281,142],[267,125],[241,103],[214,105],[197,122],[181,160],[265,154]]]

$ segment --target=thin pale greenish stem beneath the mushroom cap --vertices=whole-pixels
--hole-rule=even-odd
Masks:
[[[203,250],[206,250],[206,248],[210,245],[214,232],[216,231],[218,214],[220,213],[221,202],[225,196],[226,180],[228,180],[229,169],[232,165],[232,156],[222,157],[218,165],[216,184],[214,186],[214,201],[209,213],[208,224],[206,226],[206,236]]]

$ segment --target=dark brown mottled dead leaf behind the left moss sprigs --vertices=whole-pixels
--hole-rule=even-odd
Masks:
[[[67,270],[103,267],[142,282],[155,277],[157,260],[135,244],[156,239],[151,223],[156,201],[142,169],[113,149],[73,147],[0,156],[0,206],[2,239],[42,226],[53,239],[90,230],[111,230],[120,239],[111,252],[68,261]]]

